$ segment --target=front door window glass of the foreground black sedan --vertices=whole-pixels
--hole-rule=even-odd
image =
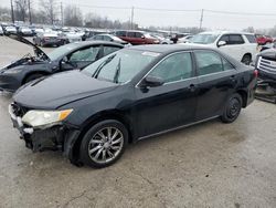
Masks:
[[[149,75],[161,77],[164,83],[192,77],[191,54],[188,52],[172,54],[159,63]]]

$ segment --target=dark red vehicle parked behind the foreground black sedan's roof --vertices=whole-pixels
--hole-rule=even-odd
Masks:
[[[142,31],[135,30],[120,30],[116,31],[115,35],[120,38],[121,40],[129,42],[130,44],[159,44],[160,41],[149,33]]]

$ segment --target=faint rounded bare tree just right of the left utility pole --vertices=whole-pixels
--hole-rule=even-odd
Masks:
[[[83,25],[83,14],[78,7],[66,6],[64,11],[64,24],[71,27],[82,27]]]

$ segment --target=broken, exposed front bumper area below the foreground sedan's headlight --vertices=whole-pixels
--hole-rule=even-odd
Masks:
[[[64,156],[73,159],[73,146],[77,141],[81,131],[70,127],[66,124],[60,124],[44,129],[26,127],[22,118],[17,116],[12,106],[9,106],[9,113],[13,127],[20,132],[20,138],[25,142],[25,146],[35,152],[62,150]]]

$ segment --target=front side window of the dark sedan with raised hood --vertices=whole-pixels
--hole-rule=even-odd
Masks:
[[[70,56],[70,62],[94,62],[96,61],[99,49],[99,46],[92,46],[76,51]]]

